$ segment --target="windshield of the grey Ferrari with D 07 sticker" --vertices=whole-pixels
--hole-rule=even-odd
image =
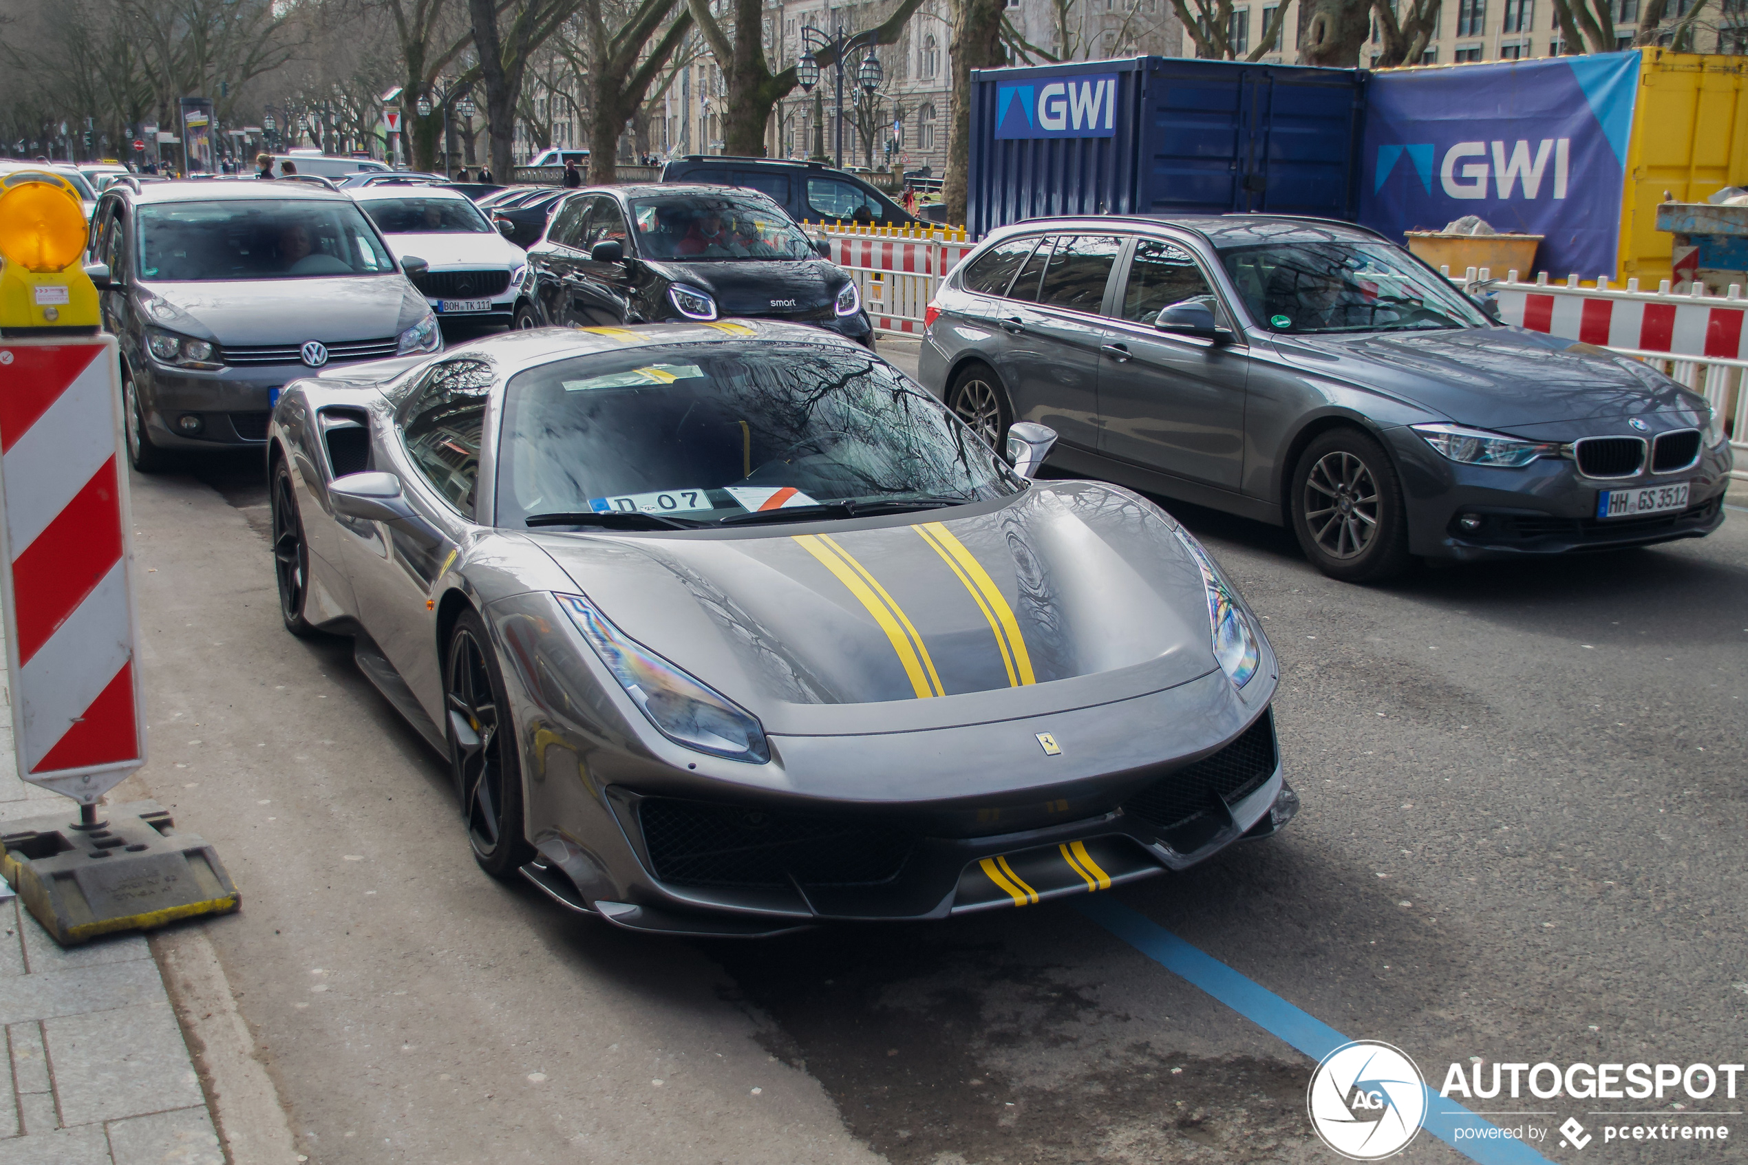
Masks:
[[[530,369],[505,388],[500,442],[498,526],[764,522],[1019,487],[872,353],[797,342],[638,348]]]

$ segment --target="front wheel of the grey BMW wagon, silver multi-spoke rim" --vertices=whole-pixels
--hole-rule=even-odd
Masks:
[[[1320,433],[1299,454],[1294,533],[1306,557],[1346,582],[1379,582],[1409,561],[1397,470],[1376,440],[1351,428]]]

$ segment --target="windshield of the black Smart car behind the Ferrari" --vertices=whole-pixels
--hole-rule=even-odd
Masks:
[[[638,253],[645,259],[711,262],[729,259],[818,259],[801,227],[767,197],[661,194],[631,199]]]

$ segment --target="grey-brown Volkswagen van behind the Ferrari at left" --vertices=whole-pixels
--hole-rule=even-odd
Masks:
[[[91,217],[103,327],[121,341],[128,461],[266,449],[287,381],[442,348],[425,295],[325,183],[114,182]]]

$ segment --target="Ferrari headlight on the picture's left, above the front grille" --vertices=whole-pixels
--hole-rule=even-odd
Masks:
[[[759,720],[734,706],[725,695],[687,676],[683,671],[642,646],[601,615],[580,594],[554,596],[570,622],[589,641],[626,695],[643,709],[664,737],[675,744],[727,756],[766,763],[771,748],[766,744]]]

